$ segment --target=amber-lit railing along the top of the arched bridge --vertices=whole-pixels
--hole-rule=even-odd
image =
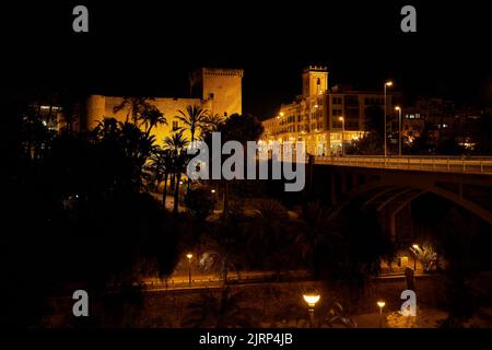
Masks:
[[[412,171],[492,174],[492,158],[460,156],[316,156],[315,164]]]

